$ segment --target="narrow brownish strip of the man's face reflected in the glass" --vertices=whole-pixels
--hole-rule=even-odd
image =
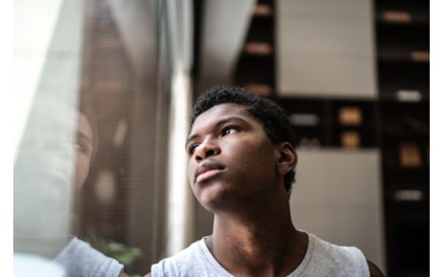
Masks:
[[[93,152],[93,132],[89,120],[81,112],[77,127],[77,142],[75,144],[75,189],[82,189],[89,174],[90,160]]]

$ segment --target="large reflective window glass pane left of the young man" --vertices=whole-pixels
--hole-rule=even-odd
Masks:
[[[15,2],[15,275],[143,275],[159,259],[159,12],[157,1]]]

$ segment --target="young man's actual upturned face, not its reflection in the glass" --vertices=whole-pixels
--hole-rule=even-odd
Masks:
[[[194,195],[207,210],[276,185],[276,146],[260,121],[237,104],[219,104],[195,120],[186,149]]]

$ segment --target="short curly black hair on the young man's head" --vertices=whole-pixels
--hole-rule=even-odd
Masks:
[[[259,119],[265,133],[273,143],[290,142],[295,148],[295,138],[291,124],[283,108],[268,98],[263,98],[239,87],[214,87],[198,96],[192,108],[190,127],[198,116],[218,104],[239,104],[246,111]],[[295,170],[284,175],[286,195],[291,196],[292,183],[295,181]]]

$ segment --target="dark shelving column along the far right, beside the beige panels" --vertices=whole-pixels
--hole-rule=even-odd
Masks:
[[[376,0],[389,276],[429,276],[429,1]]]

